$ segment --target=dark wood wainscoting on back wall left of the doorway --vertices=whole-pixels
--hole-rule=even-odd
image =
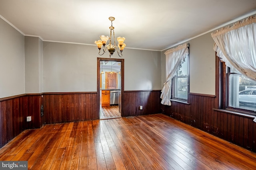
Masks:
[[[99,119],[97,92],[45,93],[44,124]]]

